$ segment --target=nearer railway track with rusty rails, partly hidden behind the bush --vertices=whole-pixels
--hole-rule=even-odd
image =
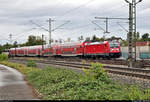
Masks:
[[[20,59],[18,59],[20,60]],[[13,61],[13,60],[12,60]],[[14,59],[17,61],[17,59]],[[24,59],[22,61],[28,61]],[[73,67],[73,68],[85,68],[89,69],[90,64],[87,63],[79,63],[79,62],[68,62],[68,61],[56,61],[56,60],[35,60],[36,63],[43,63],[49,65],[59,65],[64,67]],[[141,69],[141,68],[128,68],[126,66],[115,66],[115,65],[104,65],[105,70],[111,74],[124,75],[134,78],[141,78],[150,81],[150,70],[149,69]]]

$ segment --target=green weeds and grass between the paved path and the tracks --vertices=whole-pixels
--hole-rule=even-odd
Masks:
[[[85,74],[53,67],[41,70],[22,64],[0,63],[25,74],[46,100],[150,100],[149,89],[112,82],[98,63],[84,70]]]

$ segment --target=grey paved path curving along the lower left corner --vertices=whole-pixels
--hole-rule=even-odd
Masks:
[[[39,100],[24,76],[15,69],[0,65],[0,100]]]

